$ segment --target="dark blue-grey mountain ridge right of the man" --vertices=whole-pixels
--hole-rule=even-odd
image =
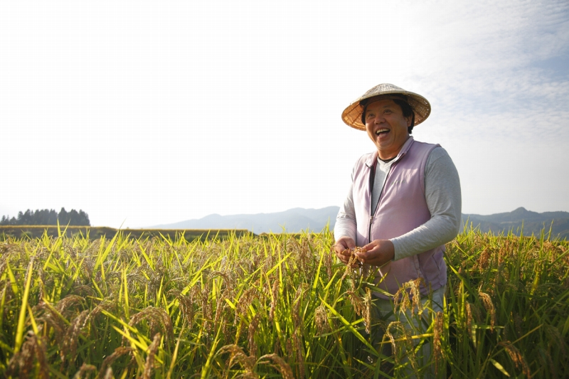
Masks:
[[[539,235],[545,229],[551,237],[569,237],[569,212],[543,212],[537,213],[526,208],[517,208],[511,212],[495,213],[494,215],[462,215],[462,225],[468,222],[482,232],[508,233],[511,230],[515,235]]]

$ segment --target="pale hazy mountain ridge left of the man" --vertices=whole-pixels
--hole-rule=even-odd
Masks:
[[[319,232],[330,223],[330,229],[336,224],[336,215],[340,208],[336,206],[321,209],[292,208],[277,213],[257,213],[255,215],[207,215],[198,220],[186,220],[179,223],[156,225],[162,229],[248,229],[253,233],[298,233],[301,230]]]

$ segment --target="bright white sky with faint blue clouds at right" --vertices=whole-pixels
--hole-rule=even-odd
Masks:
[[[569,2],[1,1],[0,215],[139,228],[340,205],[382,82],[462,213],[569,211]]]

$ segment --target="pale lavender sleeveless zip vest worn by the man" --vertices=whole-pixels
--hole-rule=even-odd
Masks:
[[[435,147],[413,140],[405,142],[385,180],[376,210],[371,210],[371,170],[378,159],[378,152],[361,156],[353,171],[353,205],[356,210],[356,246],[367,245],[373,240],[389,240],[400,237],[431,218],[425,200],[425,166]],[[399,287],[410,280],[422,278],[421,294],[438,289],[447,283],[447,266],[443,260],[445,245],[418,255],[388,262],[379,269],[376,285],[395,294]],[[376,296],[388,299],[376,293]]]

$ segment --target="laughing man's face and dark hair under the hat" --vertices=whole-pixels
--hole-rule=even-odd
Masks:
[[[381,159],[397,156],[409,138],[407,128],[411,119],[403,117],[403,111],[393,100],[378,100],[366,107],[366,130]]]

